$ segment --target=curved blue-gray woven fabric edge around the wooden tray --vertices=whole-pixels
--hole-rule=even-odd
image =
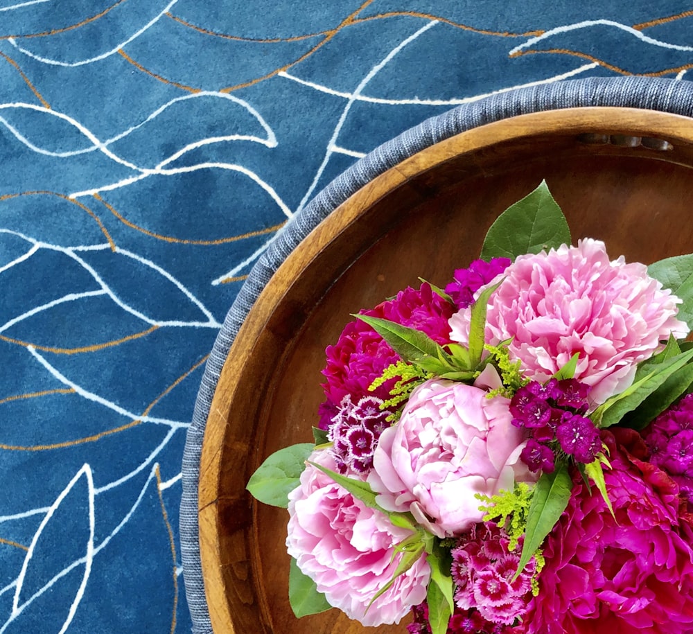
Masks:
[[[360,159],[319,193],[277,234],[256,263],[229,310],[202,377],[183,455],[180,509],[181,551],[194,634],[211,634],[204,595],[198,536],[198,475],[204,426],[231,343],[258,294],[286,256],[333,209],[392,166],[434,143],[501,119],[568,107],[620,106],[693,116],[693,82],[660,78],[588,78],[496,94],[459,106],[400,134]]]

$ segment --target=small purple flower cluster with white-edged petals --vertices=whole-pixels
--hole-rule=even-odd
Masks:
[[[376,396],[363,396],[358,403],[351,395],[342,398],[340,409],[333,416],[327,432],[328,440],[334,443],[332,454],[337,470],[342,475],[367,473],[373,468],[373,452],[380,434],[386,430],[389,410],[381,410],[383,401]]]

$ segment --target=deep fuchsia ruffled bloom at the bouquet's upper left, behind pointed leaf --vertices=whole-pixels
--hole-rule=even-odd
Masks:
[[[448,319],[454,312],[453,306],[432,292],[427,283],[419,290],[405,288],[394,299],[360,312],[416,328],[439,344],[450,343]],[[321,429],[329,428],[347,394],[354,402],[362,396],[389,398],[396,379],[386,381],[373,392],[369,392],[368,387],[389,364],[399,360],[399,355],[366,322],[356,319],[344,326],[337,343],[326,349],[326,355],[327,364],[322,371],[326,378],[322,384],[325,401],[319,410]]]

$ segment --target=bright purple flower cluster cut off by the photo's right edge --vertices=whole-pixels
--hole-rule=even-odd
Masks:
[[[643,437],[649,461],[672,477],[681,497],[693,502],[693,394],[657,416]]]

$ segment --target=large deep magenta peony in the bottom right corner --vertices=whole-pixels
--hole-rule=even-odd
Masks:
[[[528,634],[693,631],[693,549],[678,486],[642,461],[647,449],[637,432],[613,429],[617,436],[602,432],[602,439],[616,518],[575,475],[568,508],[543,545]]]

